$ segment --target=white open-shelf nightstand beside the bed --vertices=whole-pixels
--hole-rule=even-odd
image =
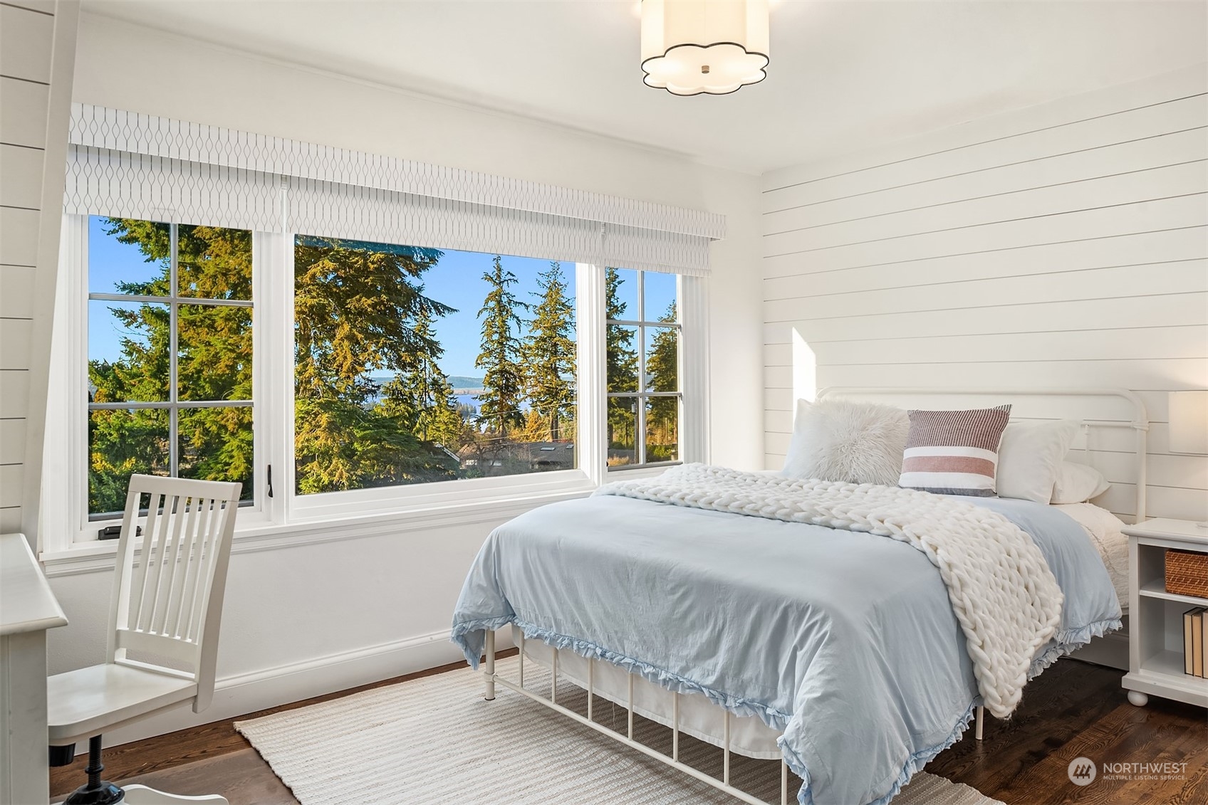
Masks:
[[[1183,672],[1183,613],[1208,599],[1166,591],[1166,549],[1208,553],[1208,529],[1190,520],[1145,520],[1128,535],[1128,701],[1150,695],[1208,707],[1208,679]]]

